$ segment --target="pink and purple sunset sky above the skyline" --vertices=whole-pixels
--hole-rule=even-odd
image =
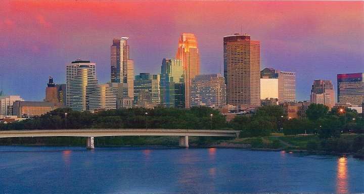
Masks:
[[[42,101],[49,76],[66,83],[66,63],[96,63],[110,80],[113,38],[129,37],[134,75],[159,74],[182,32],[195,33],[201,73],[223,74],[222,38],[260,41],[261,69],[296,72],[296,99],[314,79],[364,72],[363,1],[1,1],[0,81],[7,95]],[[335,88],[336,90],[336,88]]]

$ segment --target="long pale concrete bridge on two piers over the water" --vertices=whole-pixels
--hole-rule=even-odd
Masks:
[[[87,137],[86,149],[94,149],[94,137],[100,136],[179,136],[179,147],[188,148],[189,136],[225,136],[239,138],[240,131],[191,129],[60,129],[0,131],[2,137]]]

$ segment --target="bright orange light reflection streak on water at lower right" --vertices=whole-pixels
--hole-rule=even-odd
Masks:
[[[348,193],[347,187],[347,160],[345,157],[341,157],[338,160],[337,177],[336,177],[336,192]]]

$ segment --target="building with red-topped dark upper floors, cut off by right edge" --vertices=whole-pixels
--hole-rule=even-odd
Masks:
[[[361,105],[364,102],[364,73],[337,75],[338,103]]]

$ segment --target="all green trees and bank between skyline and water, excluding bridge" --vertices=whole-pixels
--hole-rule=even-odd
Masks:
[[[239,130],[231,137],[189,137],[190,147],[243,148],[353,154],[364,158],[364,121],[355,110],[310,104],[302,118],[291,118],[281,106],[258,107],[238,114],[230,121],[210,107],[191,109],[154,107],[102,110],[95,113],[56,109],[41,116],[12,123],[0,123],[0,130],[32,129],[210,129]],[[66,117],[67,116],[67,117]],[[9,137],[0,145],[85,146],[86,137]],[[95,137],[102,146],[177,146],[176,136]]]

